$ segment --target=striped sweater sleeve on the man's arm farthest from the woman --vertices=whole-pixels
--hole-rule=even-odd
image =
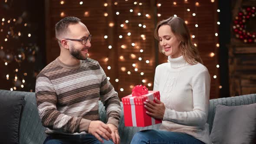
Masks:
[[[79,132],[82,117],[71,117],[59,112],[56,108],[57,100],[51,81],[46,75],[39,74],[36,78],[36,104],[43,126],[66,133]]]

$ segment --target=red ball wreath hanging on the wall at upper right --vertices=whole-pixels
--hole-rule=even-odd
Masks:
[[[247,32],[245,30],[245,23],[250,17],[256,16],[255,7],[243,8],[242,11],[238,13],[236,19],[234,20],[234,32],[236,33],[236,38],[243,40],[244,43],[256,43],[256,32]]]

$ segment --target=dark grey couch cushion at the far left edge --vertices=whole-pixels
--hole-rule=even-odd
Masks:
[[[0,141],[5,144],[19,144],[20,114],[24,96],[0,96]]]

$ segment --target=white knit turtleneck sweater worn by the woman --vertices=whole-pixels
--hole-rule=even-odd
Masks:
[[[166,107],[161,130],[189,134],[211,144],[209,125],[210,75],[207,68],[197,63],[190,65],[183,56],[158,65],[154,91],[160,91]]]

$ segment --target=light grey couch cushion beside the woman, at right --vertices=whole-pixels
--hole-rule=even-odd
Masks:
[[[256,144],[256,103],[217,105],[210,137],[213,144]]]

